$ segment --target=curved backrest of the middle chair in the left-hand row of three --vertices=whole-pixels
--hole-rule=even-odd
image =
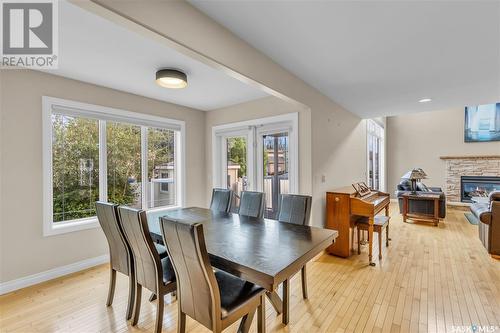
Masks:
[[[163,281],[163,270],[149,234],[146,212],[124,206],[119,207],[118,212],[125,238],[132,249],[137,283],[157,294],[157,281]]]

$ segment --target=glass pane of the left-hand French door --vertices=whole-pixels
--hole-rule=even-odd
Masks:
[[[247,144],[246,137],[225,138],[225,178],[227,188],[235,194],[231,206],[233,211],[238,211],[241,192],[248,189]]]

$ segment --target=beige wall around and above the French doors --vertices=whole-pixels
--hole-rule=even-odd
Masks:
[[[205,121],[205,147],[207,152],[206,177],[207,198],[212,191],[212,127],[239,121],[276,116],[285,113],[299,113],[299,188],[303,194],[312,194],[311,170],[311,113],[308,109],[285,102],[276,97],[266,97],[255,101],[233,105],[207,112]]]

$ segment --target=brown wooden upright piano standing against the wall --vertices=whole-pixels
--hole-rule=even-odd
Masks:
[[[369,261],[372,265],[373,219],[380,211],[385,210],[389,216],[389,194],[370,190],[360,196],[352,186],[346,186],[326,192],[326,227],[339,232],[335,243],[328,248],[330,254],[347,258],[350,255],[350,228],[360,217],[368,217]]]

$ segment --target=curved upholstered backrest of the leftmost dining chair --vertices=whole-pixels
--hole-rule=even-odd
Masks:
[[[101,201],[95,205],[97,220],[108,241],[111,268],[129,275],[132,253],[119,221],[118,205]]]

